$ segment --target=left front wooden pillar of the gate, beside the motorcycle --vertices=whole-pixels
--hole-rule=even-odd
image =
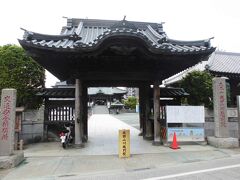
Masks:
[[[79,79],[76,79],[75,83],[75,146],[81,147],[82,146],[82,127],[83,122],[81,118],[82,114],[82,107],[81,107],[81,101],[82,101],[82,82]]]

